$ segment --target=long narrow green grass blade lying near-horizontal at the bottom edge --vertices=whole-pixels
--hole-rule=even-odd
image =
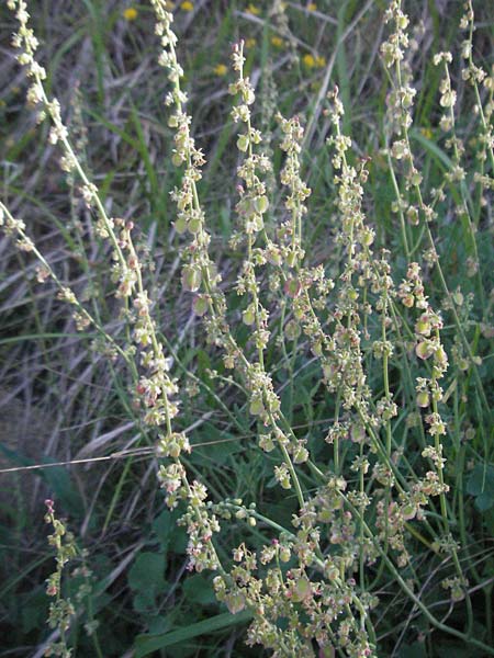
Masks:
[[[179,642],[198,637],[199,635],[205,635],[213,631],[221,631],[228,626],[236,626],[237,624],[244,624],[251,619],[251,613],[248,611],[240,612],[238,614],[218,614],[210,620],[198,622],[172,631],[171,633],[165,633],[162,635],[138,635],[134,643],[135,658],[143,658],[148,656],[153,651],[158,651]]]

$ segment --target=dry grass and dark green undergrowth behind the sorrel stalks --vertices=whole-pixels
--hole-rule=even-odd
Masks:
[[[325,263],[333,275],[338,266],[333,241],[336,192],[326,146],[329,124],[322,113],[326,91],[337,84],[345,106],[343,129],[351,135],[357,156],[369,158],[368,219],[379,246],[391,252],[395,281],[406,272],[392,209],[393,181],[382,152],[388,79],[380,45],[385,37],[385,7],[384,0],[176,3],[192,134],[207,159],[201,198],[212,223],[212,258],[224,277],[233,313],[240,311],[233,287],[240,256],[228,247],[236,222],[238,152],[233,145],[238,126],[229,117],[227,87],[233,79],[232,44],[240,38],[245,39],[246,70],[256,88],[255,121],[272,152],[274,175],[282,164],[274,148],[276,111],[284,116],[299,114],[307,127],[302,162],[312,189],[304,229],[310,260]],[[473,8],[475,58],[490,71],[494,5],[479,0]],[[417,95],[411,136],[430,190],[451,167],[438,127],[442,75],[433,65],[433,55],[441,50],[458,55],[463,3],[424,0],[405,3],[405,10],[413,26],[423,25],[415,34]],[[188,467],[200,474],[213,496],[256,501],[278,523],[290,525],[293,500],[276,487],[273,460],[252,441],[255,429],[245,396],[223,368],[221,355],[204,345],[190,294],[180,284],[181,241],[173,230],[176,209],[170,202],[179,174],[170,163],[172,133],[162,103],[167,80],[156,64],[151,9],[144,2],[119,0],[38,0],[30,3],[30,12],[41,42],[38,59],[48,73],[47,90],[60,101],[85,167],[108,212],[132,218],[145,248],[148,286],[158,300],[158,326],[169,339],[187,392],[180,419],[193,443]],[[59,276],[98,309],[106,330],[119,331],[108,249],[89,228],[89,213],[77,185],[59,170],[48,126],[36,126],[26,106],[25,76],[10,45],[15,27],[2,3],[2,201],[24,218]],[[467,97],[458,63],[452,65],[452,76],[459,94]],[[458,129],[465,141],[474,123],[472,114],[459,118]],[[273,202],[279,203],[273,194]],[[492,198],[483,198],[473,189],[480,283],[469,271],[470,234],[454,214],[458,200],[451,198],[434,227],[436,248],[449,290],[464,300],[459,314],[489,393],[493,384]],[[82,238],[89,243],[86,251]],[[231,615],[215,600],[212,574],[188,574],[186,530],[176,525],[179,514],[165,508],[154,447],[138,424],[123,367],[94,348],[97,336],[91,329],[76,330],[54,287],[37,284],[31,254],[19,252],[2,237],[0,258],[0,468],[69,464],[0,473],[0,656],[42,656],[52,633],[46,626],[45,579],[54,570],[54,551],[46,543],[43,520],[43,500],[48,495],[83,549],[70,567],[72,574],[77,566],[76,572],[66,582],[78,611],[69,636],[75,655],[133,656],[135,650],[138,656],[177,658],[263,655],[258,646],[249,648],[244,643],[248,614]],[[431,270],[426,283],[433,305],[441,308],[444,292]],[[454,353],[456,331],[448,318],[444,330],[448,353]],[[245,343],[248,333],[248,327],[240,325],[239,341]],[[469,632],[492,646],[494,450],[480,387],[471,367],[459,366],[460,358],[445,385],[450,401],[447,420],[452,428],[448,477],[453,486],[451,506],[459,519],[454,527],[461,541],[459,556],[472,588]],[[312,453],[321,462],[330,462],[332,451],[324,442],[317,444],[319,431],[315,430],[326,431],[334,418],[334,400],[321,386],[314,359],[294,351],[288,360],[288,370],[272,366],[283,408],[300,435],[308,440]],[[397,370],[392,378],[398,387]],[[400,418],[404,428],[406,416]],[[484,433],[479,431],[482,423]],[[406,444],[406,451],[409,462],[419,458],[414,441]],[[240,523],[232,523],[229,545],[246,536],[252,542],[256,532],[252,535]],[[440,556],[430,557],[419,542],[413,559],[425,583],[420,595],[429,609],[463,629],[464,609],[441,588],[448,565]],[[379,656],[481,655],[472,654],[459,639],[433,632],[392,578],[383,578],[380,595]],[[139,636],[149,634],[157,635],[159,648],[146,654]]]

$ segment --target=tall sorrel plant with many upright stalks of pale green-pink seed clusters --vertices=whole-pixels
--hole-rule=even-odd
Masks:
[[[26,2],[9,0],[8,5],[18,21],[13,46],[30,80],[27,101],[38,123],[49,123],[60,168],[90,212],[90,230],[111,254],[108,274],[117,299],[113,322],[101,321],[98,299],[89,303],[78,295],[30,237],[30,227],[1,203],[3,229],[18,249],[38,260],[37,280],[57,286],[77,329],[97,332],[99,349],[112,363],[125,364],[130,408],[154,443],[164,504],[177,508],[179,524],[187,527],[189,570],[213,571],[218,601],[233,615],[251,615],[247,644],[274,656],[383,656],[382,606],[390,591],[404,601],[396,636],[420,620],[424,633],[439,632],[475,655],[494,655],[492,635],[475,633],[472,602],[474,592],[485,591],[489,627],[492,577],[474,557],[479,546],[471,546],[472,527],[463,511],[467,462],[487,474],[492,457],[482,361],[492,338],[492,295],[479,235],[489,222],[493,188],[494,78],[474,61],[471,2],[461,19],[459,56],[441,52],[433,57],[440,70],[435,112],[447,154],[442,179],[434,188],[422,170],[416,135],[426,144],[427,138],[414,128],[416,31],[400,0],[389,2],[384,12],[380,54],[388,88],[379,159],[394,194],[386,202],[394,217],[392,246],[377,228],[379,211],[369,185],[374,164],[355,150],[334,87],[325,90],[324,104],[316,105],[311,120],[322,114],[319,121],[327,122],[334,202],[325,228],[329,248],[323,257],[312,252],[305,121],[302,113],[285,117],[273,112],[274,139],[270,136],[265,148],[245,44],[234,45],[228,92],[238,182],[229,194],[236,226],[224,245],[233,273],[222,270],[212,250],[215,224],[201,195],[206,155],[192,135],[173,14],[164,0],[150,0],[173,135],[172,152],[165,157],[179,181],[169,203],[175,204],[172,230],[180,243],[180,287],[202,328],[198,340],[216,364],[207,382],[193,363],[181,367],[180,343],[158,319],[162,300],[142,240],[134,237],[138,217],[109,214],[64,112],[47,91]],[[462,106],[453,66],[461,67]],[[465,113],[473,118],[463,135]],[[465,277],[473,292],[467,296],[449,283],[438,247],[438,227],[451,212],[451,220],[461,223],[468,254]],[[317,424],[306,419],[299,427],[297,387],[308,366],[317,392],[311,405],[324,413],[329,409],[330,418]],[[270,496],[242,499],[235,484],[222,496],[214,485],[210,489],[206,469],[191,467],[193,441],[181,406],[193,387],[229,417],[232,431],[242,433],[245,427],[237,413],[248,419],[247,455],[261,455],[269,466],[272,485],[285,491],[291,521],[277,518]],[[222,400],[225,387],[235,388],[236,408],[232,398]],[[465,424],[469,405],[474,409]],[[233,532],[239,526],[245,527]],[[234,544],[238,532],[243,538]],[[483,531],[475,541],[492,554]],[[60,570],[65,563],[58,564]],[[423,595],[424,564],[444,575],[447,606],[460,611],[462,624],[449,623],[449,615],[439,614]],[[56,577],[59,583],[60,572]],[[53,651],[61,645],[67,651],[66,617],[60,617],[61,644]]]

